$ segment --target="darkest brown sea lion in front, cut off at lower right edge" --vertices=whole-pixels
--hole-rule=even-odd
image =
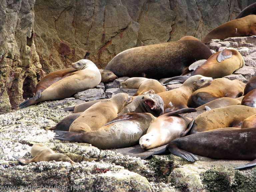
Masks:
[[[154,155],[171,152],[191,162],[198,160],[194,154],[215,159],[252,160],[256,158],[255,137],[255,128],[222,128],[205,131],[177,138],[171,141],[165,149],[155,152]],[[254,160],[235,169],[255,165]]]

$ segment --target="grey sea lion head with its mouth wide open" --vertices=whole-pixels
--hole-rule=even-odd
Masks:
[[[147,94],[144,95],[142,99],[144,100],[143,105],[148,113],[153,114],[155,117],[163,114],[164,101],[159,95]]]

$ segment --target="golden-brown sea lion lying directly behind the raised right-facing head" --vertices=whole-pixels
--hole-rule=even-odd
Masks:
[[[245,84],[237,79],[214,79],[208,87],[193,92],[187,105],[188,107],[197,108],[221,97],[238,98],[243,95],[244,87]]]

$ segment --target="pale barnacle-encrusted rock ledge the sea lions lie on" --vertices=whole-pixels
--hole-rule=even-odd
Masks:
[[[255,41],[255,37],[244,37],[209,43],[213,52],[224,46],[234,47],[244,56],[246,66],[227,78],[247,82],[255,76]],[[255,191],[256,168],[233,169],[248,161],[199,157],[197,162],[190,163],[175,155],[141,160],[116,153],[114,149],[100,150],[86,143],[53,140],[54,133],[48,129],[72,114],[62,108],[84,101],[110,98],[120,92],[132,95],[136,90],[120,87],[120,82],[127,78],[119,78],[105,85],[101,83],[95,89],[75,94],[74,98],[43,102],[0,115],[0,187],[56,185],[66,186],[62,191],[81,192]],[[179,86],[176,84],[167,89]],[[30,149],[35,143],[42,143],[56,152],[66,154],[76,163],[71,165],[51,161],[22,166],[12,158],[13,155],[31,158]]]

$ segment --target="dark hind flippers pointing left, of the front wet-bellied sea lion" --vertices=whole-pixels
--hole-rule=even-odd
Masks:
[[[83,133],[54,130],[54,139],[61,141],[83,142]]]

